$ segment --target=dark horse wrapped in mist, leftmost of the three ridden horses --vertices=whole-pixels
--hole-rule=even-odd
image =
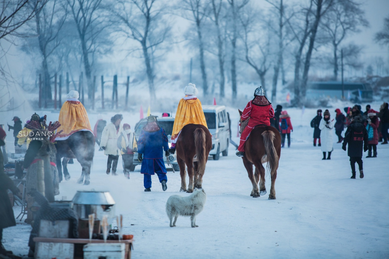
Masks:
[[[91,174],[93,156],[95,155],[95,136],[93,136],[93,133],[90,131],[77,131],[70,135],[68,139],[58,140],[55,147],[57,149],[56,164],[60,182],[62,181],[61,158],[63,157],[63,174],[66,180],[70,179],[67,169],[69,158],[77,158],[82,167],[81,177],[77,183],[88,185],[90,183],[89,176]]]

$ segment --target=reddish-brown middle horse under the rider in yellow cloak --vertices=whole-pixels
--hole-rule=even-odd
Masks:
[[[175,147],[177,151],[177,163],[180,167],[180,191],[193,193],[193,187],[202,189],[205,164],[208,161],[208,155],[212,149],[212,137],[209,130],[200,124],[187,124],[182,128]],[[189,176],[187,190],[185,165],[188,169]]]

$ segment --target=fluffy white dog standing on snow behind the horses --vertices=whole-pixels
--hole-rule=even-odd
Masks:
[[[170,196],[166,202],[166,214],[168,214],[170,219],[170,226],[175,227],[175,222],[180,215],[191,216],[192,228],[198,227],[196,225],[196,216],[203,210],[206,200],[207,194],[204,189],[196,190],[187,197],[180,195]]]

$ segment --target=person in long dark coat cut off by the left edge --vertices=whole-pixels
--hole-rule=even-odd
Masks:
[[[4,137],[5,132],[0,128],[0,147],[5,144]],[[0,148],[0,254],[4,256],[12,254],[12,251],[6,250],[2,244],[3,228],[16,226],[14,210],[9,201],[8,190],[20,195],[20,191],[14,185],[14,182],[4,173],[3,153]]]

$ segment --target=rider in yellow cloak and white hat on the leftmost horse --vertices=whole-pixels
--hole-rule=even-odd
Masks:
[[[88,114],[78,98],[79,93],[71,90],[67,95],[66,102],[62,105],[58,118],[61,126],[57,129],[57,132],[63,131],[56,138],[57,141],[65,140],[73,133],[81,130],[89,130],[93,133]]]

